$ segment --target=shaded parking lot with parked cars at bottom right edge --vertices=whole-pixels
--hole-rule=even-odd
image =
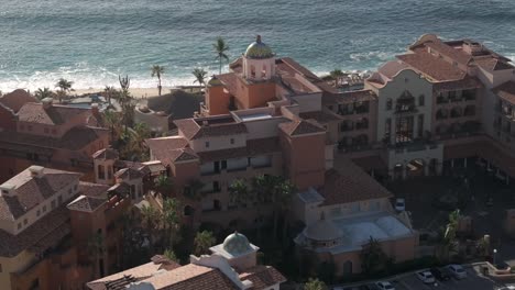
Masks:
[[[397,277],[393,277],[390,281],[395,290],[430,290],[430,289],[441,289],[441,290],[496,290],[504,285],[500,285],[495,281],[492,281],[487,277],[484,277],[481,274],[481,266],[474,266],[465,268],[467,278],[457,280],[451,278],[449,281],[437,281],[435,285],[425,285],[423,283],[414,272],[405,274]],[[366,285],[373,285],[374,281],[369,281]],[[333,290],[359,290],[362,285],[352,285],[344,287],[336,287]],[[376,288],[371,288],[376,289]]]

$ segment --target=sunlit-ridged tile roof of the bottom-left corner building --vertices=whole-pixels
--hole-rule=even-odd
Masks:
[[[13,186],[15,193],[1,194],[0,220],[14,221],[79,178],[80,174],[51,168],[44,168],[41,177],[23,170],[3,183]]]

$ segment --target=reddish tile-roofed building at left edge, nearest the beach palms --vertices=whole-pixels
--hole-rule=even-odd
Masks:
[[[0,120],[10,120],[0,125],[0,180],[34,164],[80,171],[92,181],[90,156],[109,144],[98,107],[74,108],[54,104],[52,99],[36,102],[26,92],[13,93],[24,97],[0,99]]]

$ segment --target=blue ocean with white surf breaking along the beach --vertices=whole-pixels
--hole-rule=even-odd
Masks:
[[[261,34],[277,56],[318,74],[374,69],[424,33],[469,37],[515,59],[515,0],[0,0],[0,90],[189,85],[218,71],[212,43],[230,58]],[[227,69],[227,67],[226,67]]]

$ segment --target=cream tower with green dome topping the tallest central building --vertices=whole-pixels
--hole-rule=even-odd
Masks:
[[[275,55],[261,35],[246,47],[243,54],[243,77],[252,80],[269,80],[275,75]]]

